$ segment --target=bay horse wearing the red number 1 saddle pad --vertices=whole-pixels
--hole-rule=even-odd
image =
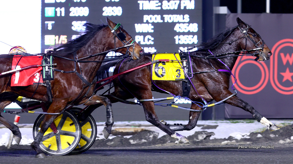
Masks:
[[[144,50],[132,39],[130,34],[123,29],[122,25],[117,25],[108,18],[106,18],[106,21],[108,23],[107,25],[86,23],[84,25],[86,30],[83,35],[54,48],[52,51],[51,55],[54,57],[54,64],[57,65],[54,67],[54,80],[50,81],[52,86],[52,103],[48,108],[48,113],[62,112],[69,104],[92,105],[98,103],[105,105],[107,110],[112,111],[112,104],[108,98],[93,93],[93,89],[96,85],[96,72],[101,66],[106,53],[96,56],[93,54],[131,44],[127,48],[121,48],[115,52],[132,55],[132,59],[137,60],[142,57]],[[84,58],[84,60],[78,64],[74,62],[76,59],[81,60],[82,58]],[[86,63],[86,61],[95,62]],[[10,57],[9,55],[1,55],[0,72],[10,71],[11,63],[11,55]],[[57,69],[62,71],[56,71]],[[71,73],[65,73],[65,71],[71,71]],[[4,77],[2,76],[0,78],[0,114],[4,111],[4,108],[16,100],[18,96],[31,97],[31,99],[43,102],[49,101],[46,87],[41,85],[39,87],[37,87],[37,85],[12,87],[10,78],[11,74],[6,74]],[[56,117],[57,115],[48,114],[45,116],[41,124],[41,129],[35,137],[34,142],[31,144],[32,148],[37,152],[36,157],[45,157],[39,144],[44,133]],[[12,131],[13,138],[17,144],[19,144],[21,133],[18,127],[7,121],[1,115],[0,123]],[[109,123],[110,127],[112,127],[111,124],[113,124],[113,117]]]

